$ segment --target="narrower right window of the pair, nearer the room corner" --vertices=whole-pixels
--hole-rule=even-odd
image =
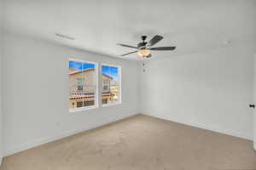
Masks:
[[[118,104],[120,98],[120,67],[102,65],[102,105]]]

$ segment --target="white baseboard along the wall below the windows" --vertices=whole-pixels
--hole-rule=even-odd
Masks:
[[[5,150],[4,156],[10,156],[10,155],[15,154],[17,152],[20,152],[20,151],[23,151],[23,150],[28,150],[28,149],[34,148],[36,146],[39,146],[41,144],[47,144],[47,143],[53,142],[57,139],[63,139],[63,138],[66,138],[68,136],[71,136],[73,134],[82,133],[86,130],[90,130],[90,129],[93,129],[93,128],[96,128],[96,127],[101,127],[103,125],[107,125],[108,123],[116,122],[116,121],[125,119],[127,117],[134,116],[134,115],[137,115],[137,113],[126,115],[126,116],[111,117],[111,118],[105,119],[102,122],[98,122],[96,124],[93,124],[90,127],[83,127],[83,128],[80,128],[80,129],[76,129],[76,130],[73,130],[73,131],[66,132],[66,133],[58,134],[56,136],[51,136],[51,137],[44,138],[44,139],[37,139],[37,140],[34,140],[34,141],[26,143],[26,144],[20,144],[18,146],[15,146],[13,148]]]

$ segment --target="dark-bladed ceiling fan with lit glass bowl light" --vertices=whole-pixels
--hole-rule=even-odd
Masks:
[[[126,47],[126,48],[136,48],[136,51],[132,51],[130,53],[127,54],[122,54],[120,56],[125,56],[125,55],[129,55],[129,54],[133,54],[133,53],[137,53],[139,56],[143,57],[143,58],[149,58],[152,57],[152,55],[150,54],[151,50],[156,50],[156,51],[169,51],[169,50],[174,50],[176,47],[158,47],[158,48],[152,48],[152,46],[154,46],[154,44],[156,44],[157,42],[160,42],[161,39],[163,39],[164,37],[161,37],[159,35],[154,36],[149,42],[145,42],[145,40],[147,39],[147,36],[142,36],[142,40],[143,42],[139,42],[137,44],[137,47],[135,46],[131,46],[131,45],[126,45],[123,43],[118,43],[118,45]]]

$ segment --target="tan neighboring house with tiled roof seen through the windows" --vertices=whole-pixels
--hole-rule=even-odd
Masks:
[[[69,77],[69,108],[95,105],[96,82],[95,69],[84,70],[68,69]],[[107,104],[113,100],[114,94],[110,91],[110,81],[113,77],[102,74],[102,104]]]

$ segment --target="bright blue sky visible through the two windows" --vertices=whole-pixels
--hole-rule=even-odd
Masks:
[[[76,70],[94,69],[95,65],[90,63],[84,63],[79,61],[69,61],[68,68]],[[118,67],[102,65],[102,73],[109,77],[117,78],[119,75]]]

